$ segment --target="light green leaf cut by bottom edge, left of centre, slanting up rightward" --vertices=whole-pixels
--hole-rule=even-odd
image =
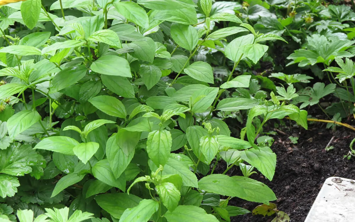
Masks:
[[[127,208],[123,212],[120,222],[147,222],[158,209],[159,203],[157,201],[141,200],[137,206]]]

